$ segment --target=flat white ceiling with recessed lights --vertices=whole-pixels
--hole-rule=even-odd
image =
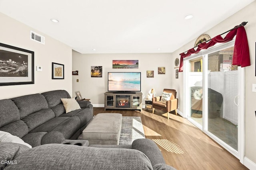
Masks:
[[[253,1],[0,0],[0,12],[79,53],[172,53]]]

